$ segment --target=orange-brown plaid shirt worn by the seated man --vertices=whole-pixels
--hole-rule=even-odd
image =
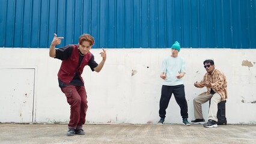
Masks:
[[[203,92],[202,94],[210,94],[210,90],[213,89],[213,91],[221,95],[222,101],[228,98],[227,80],[224,73],[215,69],[212,74],[204,74],[204,79],[198,83],[198,87],[203,88],[206,83],[210,83],[211,87],[207,88],[207,92]]]

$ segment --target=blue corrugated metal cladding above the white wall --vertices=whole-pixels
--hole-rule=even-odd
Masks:
[[[254,0],[0,0],[0,47],[256,48]]]

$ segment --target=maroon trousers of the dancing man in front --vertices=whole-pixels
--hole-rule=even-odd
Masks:
[[[70,105],[69,128],[82,129],[88,109],[85,86],[70,85],[61,88],[61,91],[66,95],[67,103]]]

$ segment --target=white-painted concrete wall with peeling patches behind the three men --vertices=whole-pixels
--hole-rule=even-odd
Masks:
[[[100,62],[101,49],[91,49],[91,52]],[[106,49],[106,52],[107,60],[100,73],[85,67],[82,74],[88,92],[87,122],[156,123],[162,86],[160,67],[162,59],[170,55],[171,50]],[[56,76],[61,61],[50,58],[48,53],[49,49],[1,48],[0,68],[35,68],[33,121],[68,122],[69,104],[58,87]],[[228,81],[228,124],[256,124],[256,49],[183,48],[179,55],[186,59],[184,85],[189,121],[194,119],[193,98],[206,91],[206,88],[195,88],[193,84],[203,79],[206,73],[203,61],[214,59],[216,68],[225,73]],[[4,86],[1,85],[1,91]],[[0,97],[8,99],[7,95],[0,94]],[[205,119],[208,106],[209,103],[203,104]],[[180,108],[174,97],[166,112],[166,122],[181,124]]]

